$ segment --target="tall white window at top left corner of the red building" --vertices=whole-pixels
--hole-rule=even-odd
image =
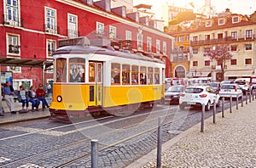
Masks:
[[[20,26],[20,3],[18,0],[6,0],[4,24]]]

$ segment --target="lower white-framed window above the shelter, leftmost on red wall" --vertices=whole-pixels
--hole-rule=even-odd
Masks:
[[[20,54],[20,36],[7,35],[7,53]]]

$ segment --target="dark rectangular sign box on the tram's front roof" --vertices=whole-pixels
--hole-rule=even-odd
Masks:
[[[88,46],[88,45],[90,45],[90,40],[86,36],[58,40],[59,48],[64,47],[64,46],[82,46],[82,47],[84,47],[84,46]]]

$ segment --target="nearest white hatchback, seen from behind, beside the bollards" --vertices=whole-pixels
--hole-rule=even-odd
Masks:
[[[211,109],[215,99],[216,106],[220,105],[219,95],[210,86],[192,86],[186,87],[185,91],[180,94],[179,108],[184,109],[186,106],[202,106],[205,104],[206,111]]]

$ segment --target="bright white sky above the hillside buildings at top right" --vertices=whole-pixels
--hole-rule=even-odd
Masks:
[[[189,3],[193,2],[196,9],[201,8],[205,4],[205,0],[133,0],[134,5],[145,3],[152,5],[152,11],[156,14],[156,18],[160,18],[160,7],[163,4],[168,3],[169,5],[182,8],[191,8]],[[253,14],[256,11],[256,0],[212,0],[212,6],[215,6],[217,12],[223,12],[225,8],[230,8],[233,14]]]

